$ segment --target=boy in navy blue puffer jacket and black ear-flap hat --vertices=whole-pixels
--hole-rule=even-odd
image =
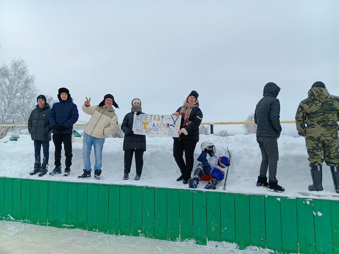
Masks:
[[[73,124],[78,121],[79,112],[77,105],[73,103],[71,94],[67,88],[58,90],[58,103],[54,103],[49,113],[49,124],[52,126],[52,139],[55,146],[55,168],[50,175],[61,173],[61,149],[62,143],[65,149],[65,171],[64,176],[71,173],[72,165],[72,134]]]

